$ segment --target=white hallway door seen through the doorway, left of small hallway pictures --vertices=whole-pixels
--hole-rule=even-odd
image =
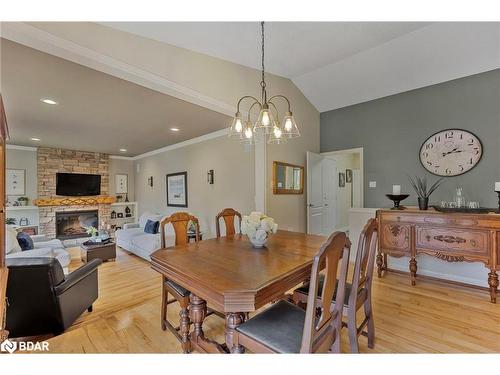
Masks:
[[[323,231],[329,236],[337,227],[337,162],[325,157],[321,163],[323,185]]]

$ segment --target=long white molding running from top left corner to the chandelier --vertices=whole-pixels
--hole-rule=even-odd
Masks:
[[[220,100],[23,22],[3,22],[0,36],[222,114],[236,112]]]

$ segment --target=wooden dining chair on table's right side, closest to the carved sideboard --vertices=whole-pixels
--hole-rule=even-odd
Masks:
[[[356,252],[356,262],[352,276],[352,283],[347,283],[346,293],[344,297],[338,293],[334,293],[332,307],[335,305],[343,306],[343,313],[347,315],[347,324],[342,323],[343,327],[347,326],[349,332],[349,343],[351,352],[358,353],[358,336],[362,334],[368,338],[368,347],[373,349],[375,345],[375,323],[373,321],[372,309],[372,280],[373,268],[375,264],[375,254],[377,252],[377,220],[370,219],[364,226],[359,235],[358,249]],[[323,278],[320,280],[321,285],[324,283]],[[296,304],[309,303],[310,288],[308,283],[305,283],[300,288],[293,292],[293,301]],[[318,299],[323,298],[319,293]],[[337,303],[337,301],[343,303]],[[356,312],[363,306],[365,318],[358,326],[356,322]],[[367,327],[367,332],[364,328]]]

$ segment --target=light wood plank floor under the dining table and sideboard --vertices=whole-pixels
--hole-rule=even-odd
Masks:
[[[74,257],[71,268],[81,265]],[[116,262],[99,268],[99,299],[60,336],[49,340],[55,353],[180,353],[180,345],[160,329],[158,273],[149,263],[118,250]],[[375,349],[360,337],[362,353],[500,352],[500,304],[487,292],[447,283],[419,280],[411,287],[406,275],[375,279],[373,303]],[[169,306],[177,321],[177,304]],[[210,316],[205,335],[224,341],[224,322]],[[348,352],[346,330],[342,351]]]

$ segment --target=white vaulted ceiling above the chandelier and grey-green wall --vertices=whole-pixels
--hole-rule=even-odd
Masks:
[[[260,69],[258,22],[105,26]],[[329,111],[500,68],[500,23],[269,22],[266,69]]]

